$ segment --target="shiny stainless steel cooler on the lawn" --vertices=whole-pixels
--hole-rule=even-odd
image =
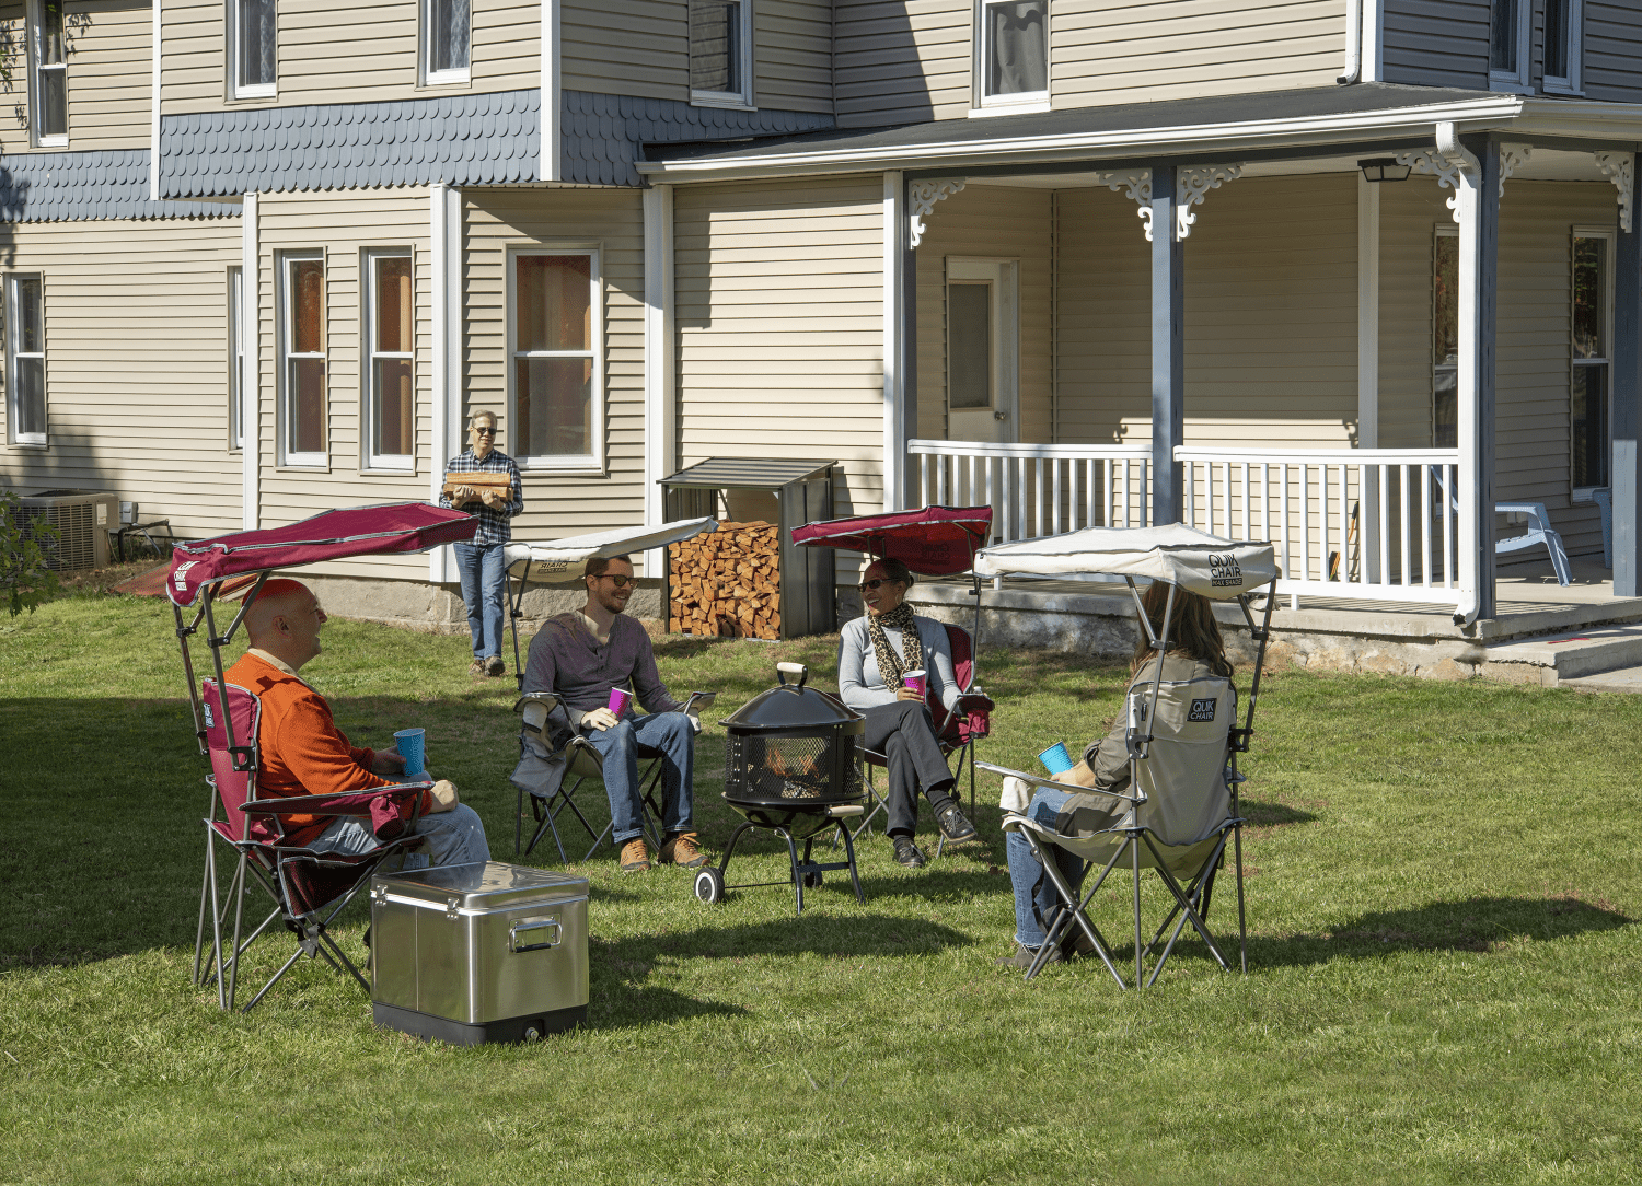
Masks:
[[[588,879],[488,861],[371,878],[371,1015],[458,1047],[588,1017]]]

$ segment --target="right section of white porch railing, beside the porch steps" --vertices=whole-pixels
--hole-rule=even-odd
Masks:
[[[1465,605],[1458,449],[1195,449],[1184,520],[1236,540],[1271,540],[1279,594]]]

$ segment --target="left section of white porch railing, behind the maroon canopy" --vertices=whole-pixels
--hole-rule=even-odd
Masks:
[[[908,441],[923,505],[992,507],[992,540],[1151,522],[1149,445]]]

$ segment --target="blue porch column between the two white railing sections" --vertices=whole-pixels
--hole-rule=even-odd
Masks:
[[[1186,244],[1177,225],[1176,166],[1151,167],[1151,523],[1186,513]]]

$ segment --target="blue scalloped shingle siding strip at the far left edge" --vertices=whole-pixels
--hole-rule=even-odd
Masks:
[[[0,223],[232,218],[223,202],[149,202],[148,149],[0,156]]]

